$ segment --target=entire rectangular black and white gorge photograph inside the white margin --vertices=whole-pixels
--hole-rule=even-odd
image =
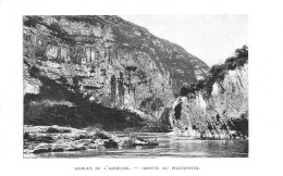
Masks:
[[[23,16],[24,158],[247,158],[247,22]]]

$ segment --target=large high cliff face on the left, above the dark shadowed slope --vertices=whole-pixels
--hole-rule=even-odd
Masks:
[[[23,37],[26,111],[76,106],[67,96],[75,93],[159,117],[184,83],[208,71],[180,46],[118,16],[24,16]]]

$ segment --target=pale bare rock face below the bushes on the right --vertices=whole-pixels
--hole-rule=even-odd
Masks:
[[[173,135],[202,138],[248,138],[248,65],[229,71],[213,84],[211,97],[198,91],[180,97],[170,112]]]

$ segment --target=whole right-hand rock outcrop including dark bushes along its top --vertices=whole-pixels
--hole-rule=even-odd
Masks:
[[[248,49],[210,68],[206,79],[182,87],[175,105],[177,128],[214,138],[248,137]],[[181,108],[176,110],[176,106]],[[173,126],[176,126],[173,121]]]

